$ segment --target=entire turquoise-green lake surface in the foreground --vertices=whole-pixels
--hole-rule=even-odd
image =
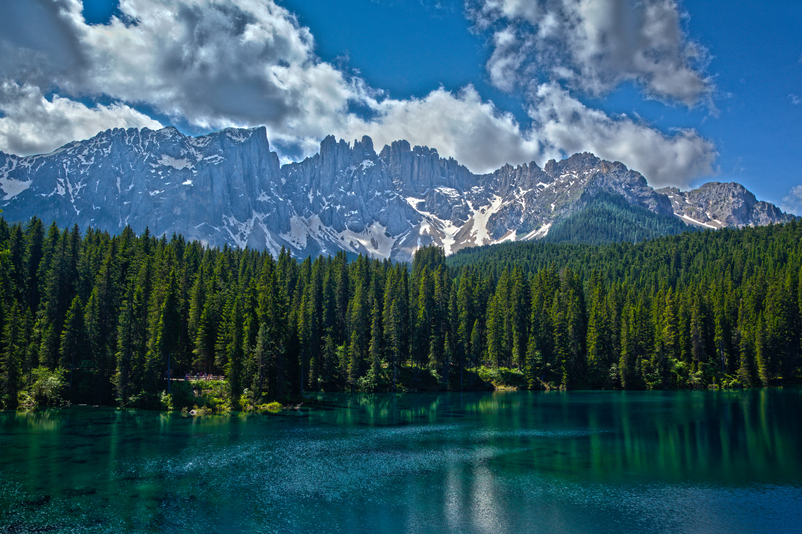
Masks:
[[[0,412],[0,532],[802,532],[798,388],[319,399]]]

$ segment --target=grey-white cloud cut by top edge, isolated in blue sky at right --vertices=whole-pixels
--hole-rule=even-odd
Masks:
[[[538,76],[594,96],[622,82],[694,105],[711,90],[707,52],[683,34],[674,0],[467,0],[480,30],[492,31],[487,63],[503,90]],[[541,80],[542,81],[542,80]]]

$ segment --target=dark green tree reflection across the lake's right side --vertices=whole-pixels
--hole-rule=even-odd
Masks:
[[[520,468],[776,482],[802,467],[799,389],[332,396],[337,424],[455,424],[468,444],[525,448],[504,458]]]

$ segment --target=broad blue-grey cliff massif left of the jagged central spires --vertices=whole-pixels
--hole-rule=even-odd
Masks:
[[[37,215],[108,231],[130,224],[264,247],[254,221],[269,217],[281,227],[289,217],[273,193],[280,175],[264,128],[196,138],[172,127],[107,130],[47,155],[0,154],[0,206],[10,220]]]

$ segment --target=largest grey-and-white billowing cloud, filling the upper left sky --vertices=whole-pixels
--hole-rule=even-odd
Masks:
[[[28,8],[19,18],[40,17],[57,29],[54,42],[41,32],[6,37],[6,77],[71,97],[146,102],[199,129],[265,125],[271,139],[320,139],[367,90],[320,61],[309,30],[269,0],[122,0],[107,25],[87,24],[79,0]]]

